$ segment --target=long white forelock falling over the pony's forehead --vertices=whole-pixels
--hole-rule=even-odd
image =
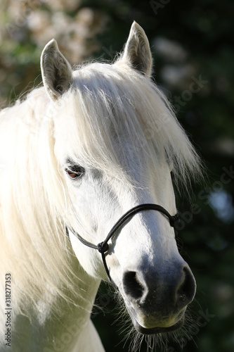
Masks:
[[[71,129],[66,144],[74,159],[126,177],[121,166],[129,148],[148,168],[157,168],[163,156],[176,183],[189,183],[200,172],[200,159],[167,98],[128,65],[93,63],[77,69],[64,99]]]

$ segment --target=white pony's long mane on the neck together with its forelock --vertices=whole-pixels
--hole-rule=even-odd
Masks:
[[[197,155],[167,99],[148,77],[122,61],[91,63],[74,70],[73,77],[60,99],[66,116],[56,127],[72,160],[122,178],[115,149],[126,134],[129,151],[141,150],[143,168],[157,165],[156,149],[178,180],[184,182],[199,170]],[[79,295],[74,288],[78,262],[65,234],[65,225],[74,221],[73,209],[54,150],[58,114],[44,88],[0,114],[0,272],[13,273],[15,314],[17,307],[24,313],[29,303],[40,310],[41,299],[56,310],[56,296],[68,299],[68,289]],[[124,153],[123,147],[122,158]],[[136,161],[140,167],[141,160]],[[4,292],[1,286],[1,298]]]

